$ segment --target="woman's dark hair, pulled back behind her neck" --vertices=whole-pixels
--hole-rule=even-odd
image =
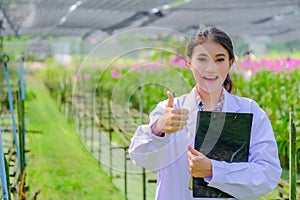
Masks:
[[[235,59],[233,53],[233,45],[230,37],[224,31],[213,26],[200,27],[194,33],[194,35],[191,37],[189,41],[189,44],[187,45],[187,56],[189,58],[192,58],[194,47],[199,44],[203,44],[208,40],[212,40],[222,45],[222,47],[226,49],[229,54],[229,60]],[[227,74],[227,77],[223,83],[223,87],[228,92],[235,91],[234,84],[229,74]]]

